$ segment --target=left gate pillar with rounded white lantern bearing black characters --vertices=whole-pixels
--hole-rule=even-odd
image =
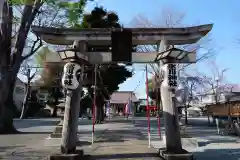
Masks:
[[[62,85],[67,89],[65,112],[62,130],[61,152],[71,154],[76,152],[78,117],[81,97],[81,80],[77,74],[83,69],[79,64],[70,62],[64,66]],[[82,77],[80,75],[80,77]]]

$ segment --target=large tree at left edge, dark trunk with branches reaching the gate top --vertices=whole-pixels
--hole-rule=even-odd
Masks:
[[[22,62],[31,57],[43,44],[39,37],[31,34],[31,25],[53,26],[60,24],[61,26],[64,23],[63,18],[56,21],[59,14],[63,14],[66,19],[72,18],[71,20],[78,22],[77,20],[82,15],[81,10],[83,10],[87,0],[81,0],[81,4],[80,1],[73,3],[78,3],[78,8],[70,7],[66,2],[52,0],[0,1],[0,133],[17,132],[13,125],[14,111],[16,110],[13,103],[13,90],[16,77]],[[44,13],[49,11],[44,7],[48,6],[54,9],[51,10],[51,14],[44,16]],[[61,10],[58,11],[58,8]],[[37,23],[43,17],[48,19],[42,23]],[[14,32],[14,26],[17,32]]]

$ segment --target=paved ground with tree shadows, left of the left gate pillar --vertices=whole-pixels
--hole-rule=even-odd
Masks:
[[[15,120],[22,134],[0,135],[0,159],[44,160],[57,147],[44,146],[45,138],[51,133],[59,119]]]

